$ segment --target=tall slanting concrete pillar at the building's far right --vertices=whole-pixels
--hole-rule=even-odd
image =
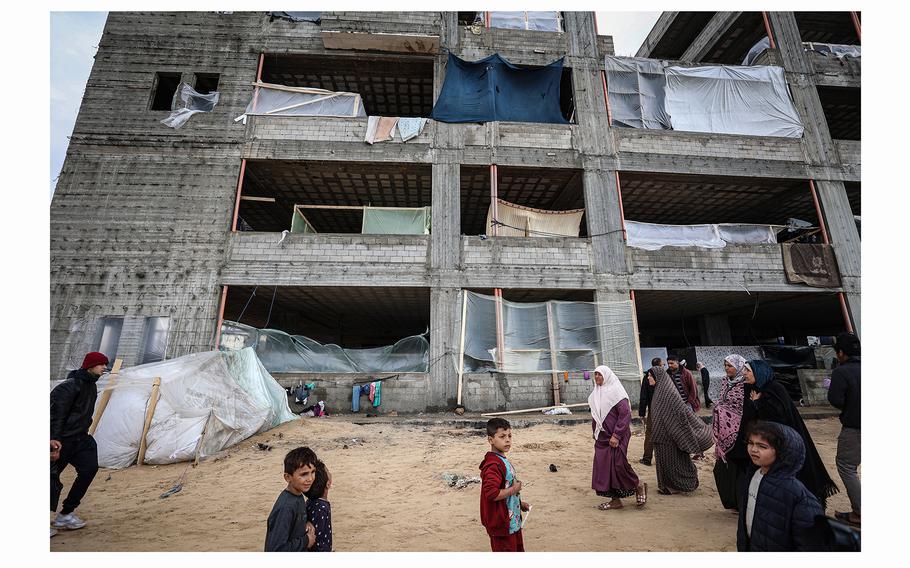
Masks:
[[[805,127],[803,152],[810,166],[818,171],[837,171],[840,158],[822,110],[812,66],[802,46],[799,27],[793,12],[769,12],[771,32],[787,73],[787,82],[800,120]],[[824,167],[831,166],[831,167]],[[839,179],[823,179],[817,175],[815,186],[828,228],[828,238],[837,258],[847,310],[857,335],[860,327],[860,239],[853,220],[844,184]]]

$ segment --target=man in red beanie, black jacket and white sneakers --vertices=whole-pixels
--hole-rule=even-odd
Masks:
[[[51,391],[51,445],[59,445],[60,457],[51,462],[51,511],[57,510],[63,483],[60,472],[67,465],[76,469],[76,480],[63,501],[63,508],[51,525],[55,529],[81,529],[85,521],[73,512],[98,473],[98,446],[88,433],[98,398],[98,377],[108,359],[93,351],[85,356],[82,368],[71,371]],[[53,533],[51,534],[53,536]]]

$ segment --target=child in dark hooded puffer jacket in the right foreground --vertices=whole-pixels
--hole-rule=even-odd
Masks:
[[[824,515],[815,495],[796,479],[806,449],[789,426],[756,421],[747,433],[752,464],[743,487],[736,549],[740,552],[824,550],[813,530]]]

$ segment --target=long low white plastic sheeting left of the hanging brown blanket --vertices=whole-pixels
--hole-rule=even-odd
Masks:
[[[625,227],[627,244],[645,250],[666,246],[723,248],[727,243],[774,244],[781,229],[775,225],[658,225],[638,221],[626,221]]]

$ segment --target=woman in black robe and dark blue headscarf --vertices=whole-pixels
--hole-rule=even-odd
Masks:
[[[806,459],[797,472],[796,479],[802,481],[803,485],[818,498],[824,509],[828,497],[840,490],[828,475],[828,470],[818,455],[815,442],[812,441],[799,410],[793,404],[790,393],[784,385],[774,380],[774,371],[761,359],[753,359],[746,363],[743,377],[748,391],[745,406],[751,409],[750,414],[754,414],[759,420],[789,426],[803,439]]]

